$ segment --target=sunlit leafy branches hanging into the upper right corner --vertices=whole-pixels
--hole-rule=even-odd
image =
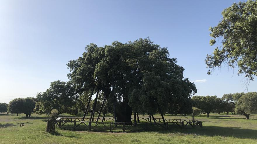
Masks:
[[[210,28],[213,37],[210,44],[222,39],[222,49],[217,47],[213,55],[207,55],[208,74],[225,63],[238,67],[238,74],[253,80],[257,76],[257,1],[234,3],[222,15],[218,25]]]

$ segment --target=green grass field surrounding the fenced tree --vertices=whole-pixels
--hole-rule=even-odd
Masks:
[[[60,117],[75,117],[62,114]],[[76,115],[76,117],[82,117]],[[140,116],[143,117],[143,116]],[[160,118],[155,115],[155,118]],[[180,116],[165,115],[165,118],[187,119]],[[190,117],[188,117],[190,118]],[[56,127],[56,134],[45,133],[47,115],[35,113],[28,119],[25,114],[0,115],[0,143],[52,143],[52,144],[79,144],[79,143],[257,143],[257,115],[250,115],[245,120],[242,115],[211,114],[195,117],[201,120],[203,128],[186,127],[171,130],[142,131],[129,133],[68,131]],[[25,126],[20,127],[24,122]]]

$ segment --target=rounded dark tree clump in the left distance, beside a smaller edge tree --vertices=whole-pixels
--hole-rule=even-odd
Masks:
[[[8,104],[7,111],[9,113],[25,113],[26,117],[30,117],[31,113],[34,112],[35,104],[37,102],[37,98],[27,97],[27,98],[15,98],[11,100]]]

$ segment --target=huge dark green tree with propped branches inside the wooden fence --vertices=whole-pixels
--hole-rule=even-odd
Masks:
[[[69,79],[78,91],[101,90],[113,104],[117,121],[131,121],[131,113],[192,112],[193,83],[183,77],[183,67],[169,58],[169,51],[149,39],[86,46],[86,52],[70,61]],[[94,93],[95,93],[94,92]]]

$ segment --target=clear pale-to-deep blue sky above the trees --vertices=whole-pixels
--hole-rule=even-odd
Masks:
[[[207,75],[204,59],[209,27],[224,8],[238,1],[0,1],[0,102],[35,96],[55,80],[67,81],[67,62],[89,43],[110,45],[149,37],[168,47],[195,81],[197,95],[246,92],[244,77],[222,67]],[[249,91],[256,91],[252,81]],[[22,96],[20,96],[22,95]]]

